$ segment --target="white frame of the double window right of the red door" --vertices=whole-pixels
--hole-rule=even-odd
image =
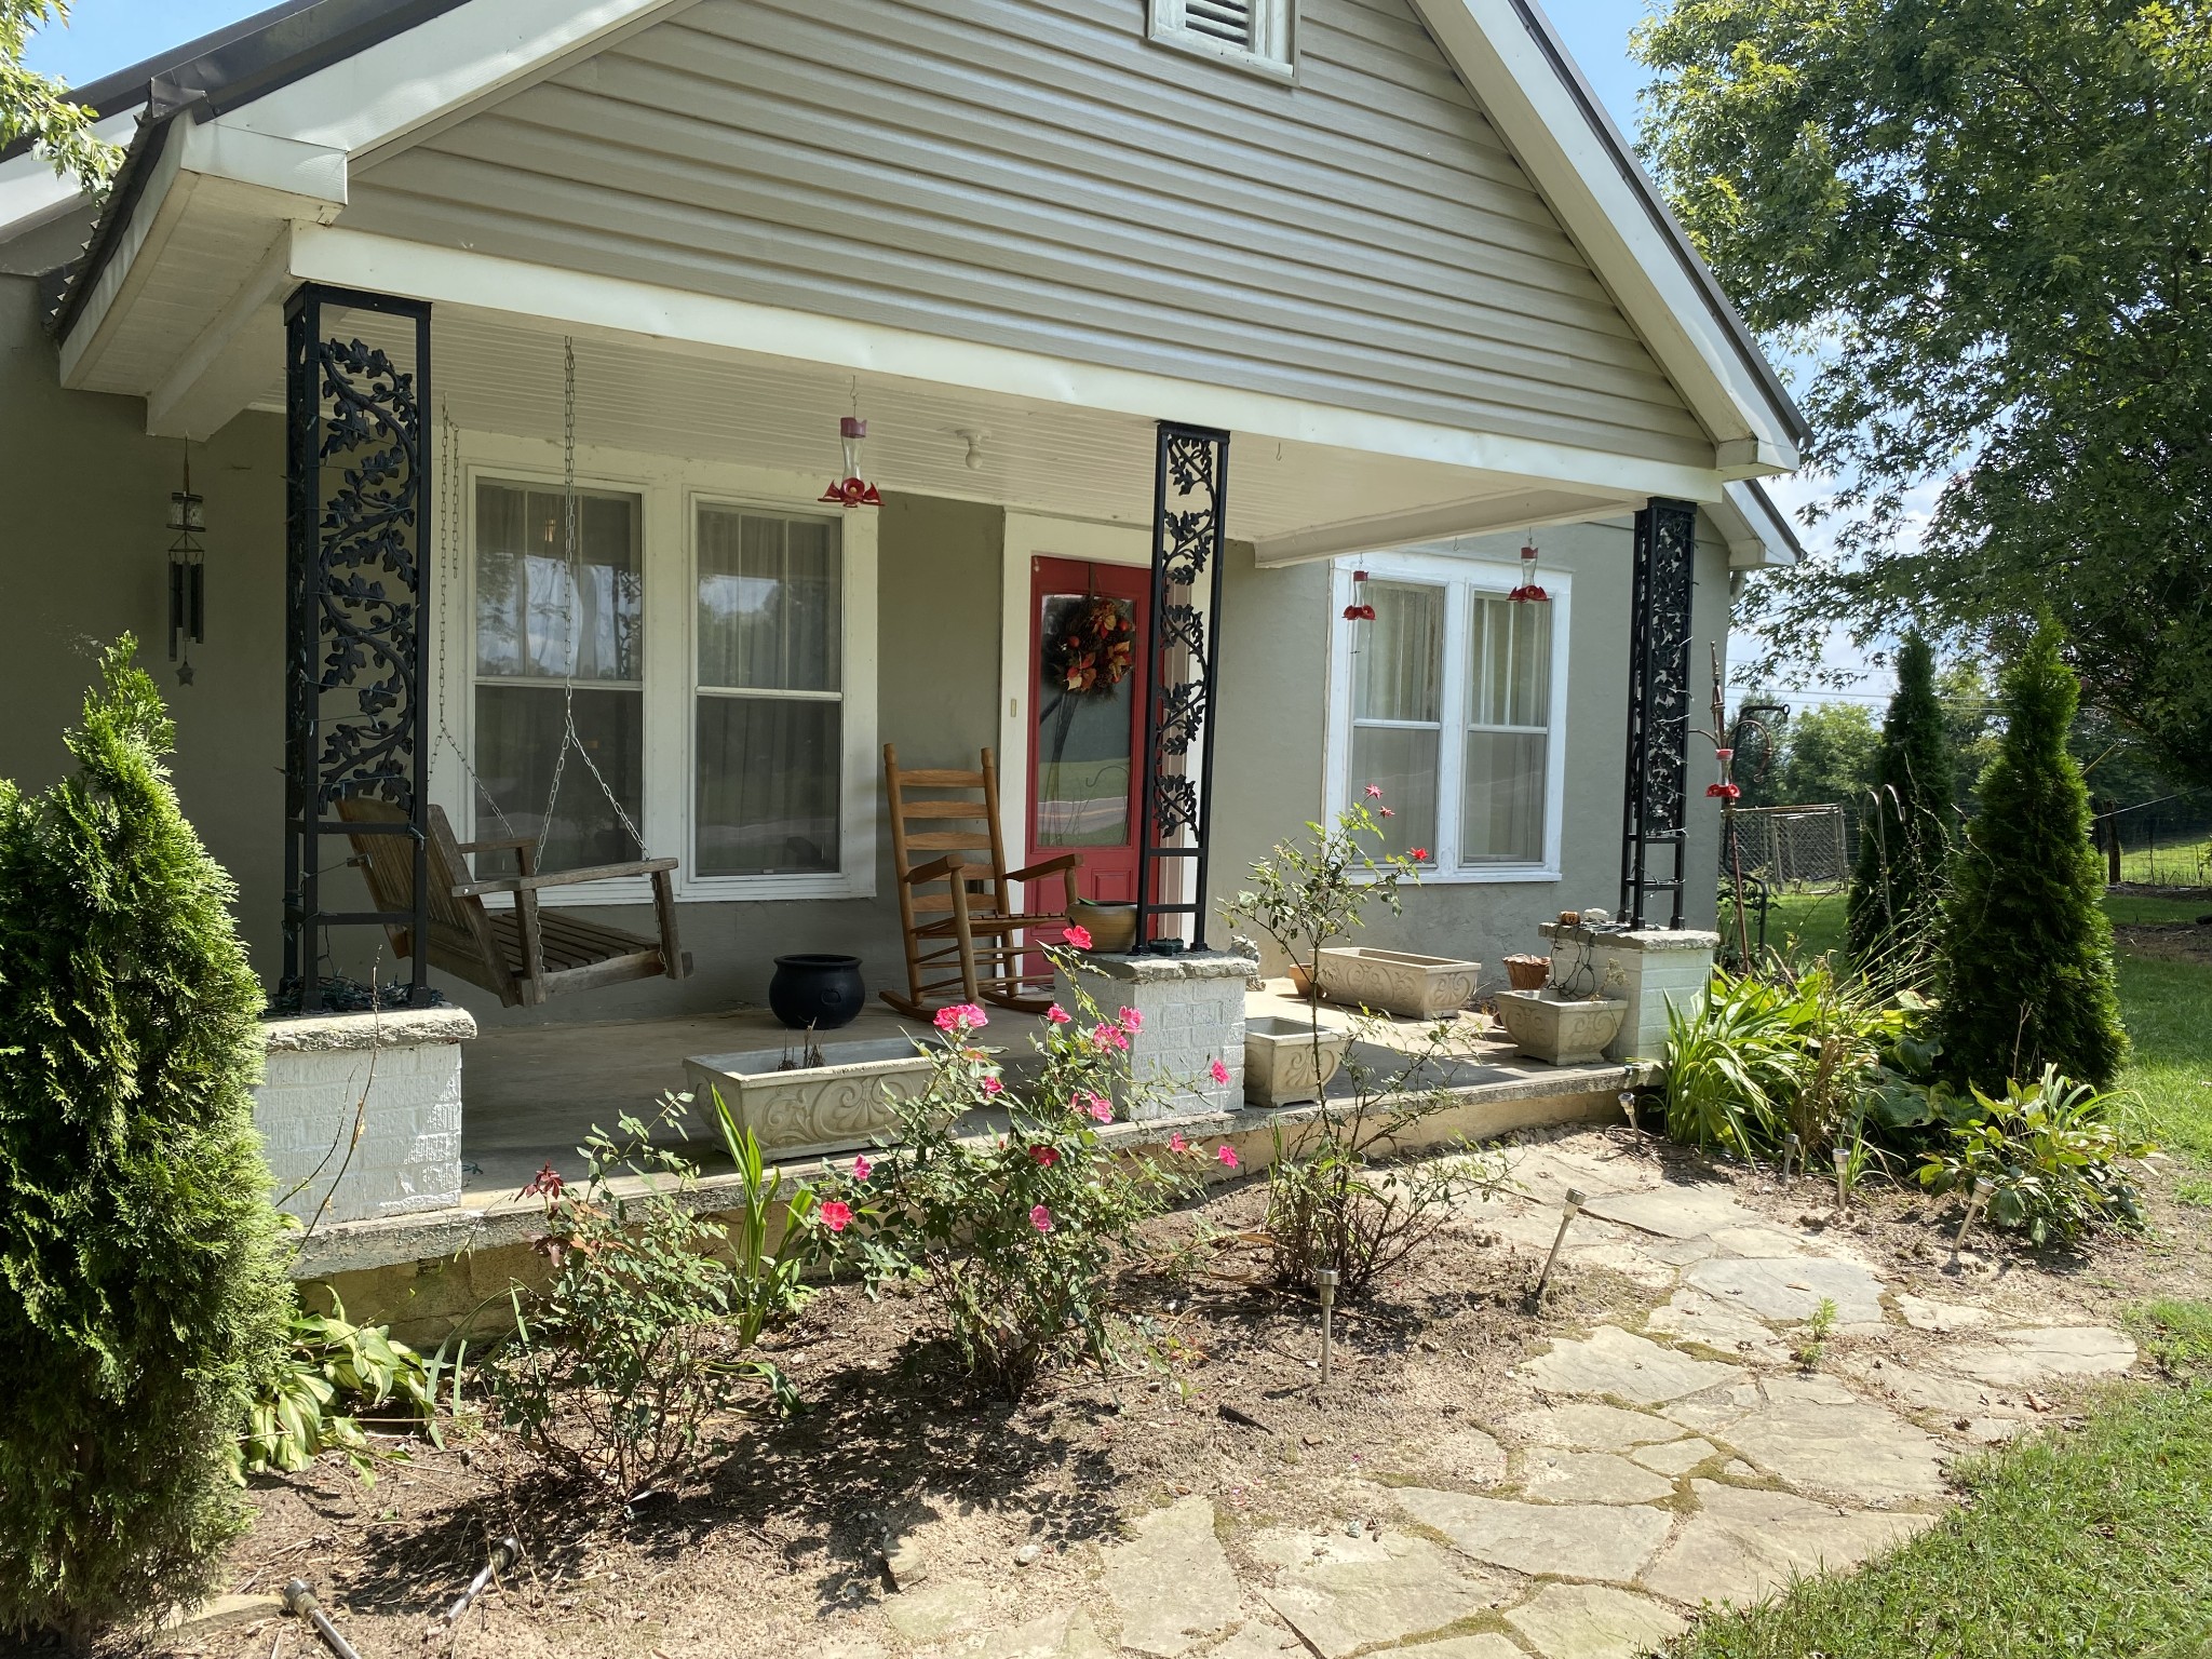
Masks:
[[[1467,770],[1467,734],[1473,730],[1473,677],[1469,675],[1473,602],[1475,595],[1504,597],[1517,588],[1522,582],[1520,562],[1506,564],[1502,560],[1471,560],[1451,553],[1402,551],[1343,557],[1332,564],[1329,712],[1325,739],[1325,781],[1332,816],[1343,812],[1352,801],[1352,641],[1354,628],[1360,624],[1345,622],[1345,606],[1354,604],[1354,571],[1367,571],[1378,582],[1411,582],[1444,588],[1436,845],[1429,849],[1436,854],[1436,863],[1422,867],[1420,883],[1438,887],[1559,880],[1562,845],[1566,841],[1566,684],[1568,641],[1573,639],[1573,575],[1546,568],[1540,577],[1544,591],[1551,595],[1551,728],[1544,750],[1544,858],[1533,865],[1462,865],[1460,812],[1464,792],[1460,785]]]

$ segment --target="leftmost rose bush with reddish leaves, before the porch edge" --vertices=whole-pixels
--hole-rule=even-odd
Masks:
[[[653,1124],[593,1128],[582,1188],[551,1166],[524,1188],[544,1201],[538,1248],[555,1276],[535,1303],[515,1294],[515,1336],[489,1367],[502,1422],[622,1502],[681,1480],[714,1413],[763,1378],[717,1329],[732,1312],[734,1272],[710,1254],[726,1234],[695,1210],[692,1166],[653,1144],[681,1119],[684,1102],[668,1099]]]

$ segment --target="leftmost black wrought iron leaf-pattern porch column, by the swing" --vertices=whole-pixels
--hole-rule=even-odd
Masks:
[[[334,314],[389,319],[385,343],[332,332]],[[383,336],[385,327],[369,325]],[[407,347],[400,345],[405,356]],[[429,305],[307,283],[285,305],[285,863],[283,978],[321,1006],[323,931],[405,927],[409,1000],[429,969]],[[347,796],[400,807],[341,823]],[[411,911],[323,907],[323,843],[407,836]]]

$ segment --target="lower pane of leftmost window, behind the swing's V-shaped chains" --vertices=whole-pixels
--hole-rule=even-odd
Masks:
[[[518,836],[535,841],[544,830],[564,706],[566,692],[557,686],[476,688],[476,774]],[[641,823],[644,816],[644,692],[637,690],[575,688],[575,734],[630,823]],[[509,834],[482,796],[476,799],[476,832],[484,838]],[[544,838],[538,867],[617,865],[637,856],[637,843],[593,781],[591,768],[571,752],[553,807],[553,834]],[[513,854],[487,852],[478,854],[476,869],[482,876],[511,876],[518,865]]]

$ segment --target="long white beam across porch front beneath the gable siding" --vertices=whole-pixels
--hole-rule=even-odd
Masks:
[[[889,374],[1079,409],[1223,427],[1239,436],[1329,445],[1376,456],[1473,467],[1608,498],[1719,500],[1721,476],[1632,456],[1440,427],[1303,398],[1179,380],[1164,374],[975,345],[938,334],[692,294],[655,283],[555,270],[460,248],[431,248],[336,226],[294,226],[292,274],[436,305],[471,307],[518,327],[622,338],[697,356],[697,347]]]

